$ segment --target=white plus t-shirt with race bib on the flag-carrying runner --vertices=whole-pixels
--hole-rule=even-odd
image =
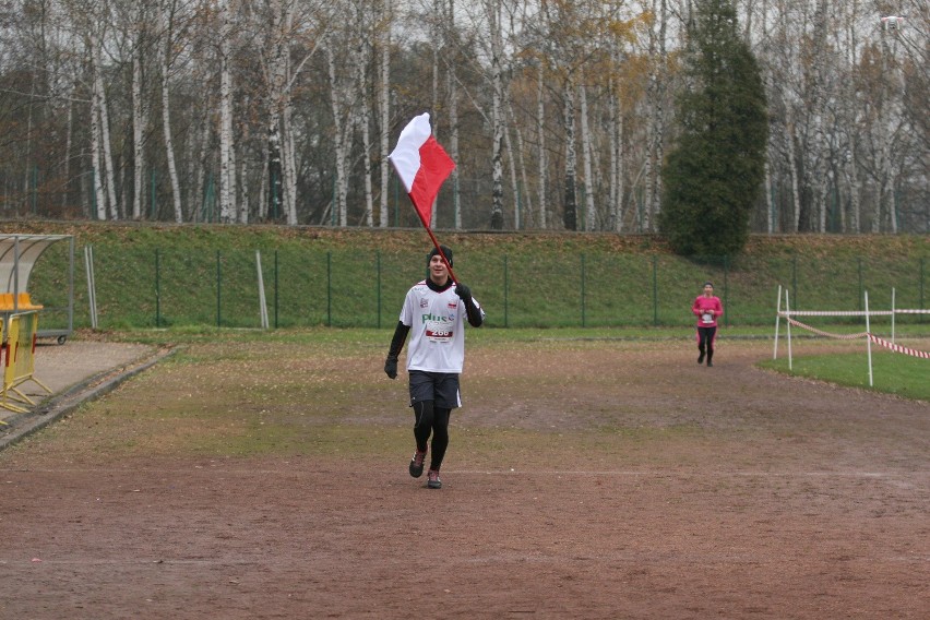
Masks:
[[[478,301],[472,301],[484,314]],[[467,320],[454,285],[442,293],[432,290],[426,281],[410,287],[401,308],[401,322],[410,327],[407,370],[461,373]]]

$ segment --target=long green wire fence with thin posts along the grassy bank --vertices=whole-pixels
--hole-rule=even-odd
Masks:
[[[51,248],[29,288],[46,310],[43,327],[68,306],[67,264]],[[84,252],[76,252],[83,257]],[[262,325],[255,250],[132,250],[95,246],[100,329]],[[74,276],[74,326],[90,326],[83,260]],[[326,325],[393,329],[407,289],[426,277],[424,257],[358,250],[263,249],[262,281],[270,327]],[[712,281],[724,325],[774,320],[778,286],[792,309],[925,309],[927,259],[868,261],[668,255],[468,252],[455,273],[474,291],[492,327],[609,327],[690,324],[691,303]],[[894,293],[893,293],[894,291]],[[899,321],[923,321],[923,317]]]

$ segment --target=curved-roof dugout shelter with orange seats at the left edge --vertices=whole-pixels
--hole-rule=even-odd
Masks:
[[[29,276],[45,251],[53,243],[68,242],[68,302],[49,308],[29,294]],[[37,337],[57,338],[63,345],[74,331],[74,237],[72,235],[0,235],[0,315],[3,333],[9,333],[10,318],[20,312],[64,312],[65,327],[38,330]]]

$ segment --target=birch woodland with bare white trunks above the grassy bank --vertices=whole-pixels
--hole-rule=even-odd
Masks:
[[[700,0],[5,0],[0,216],[652,233]],[[927,233],[923,0],[737,0],[770,112],[754,233]]]

